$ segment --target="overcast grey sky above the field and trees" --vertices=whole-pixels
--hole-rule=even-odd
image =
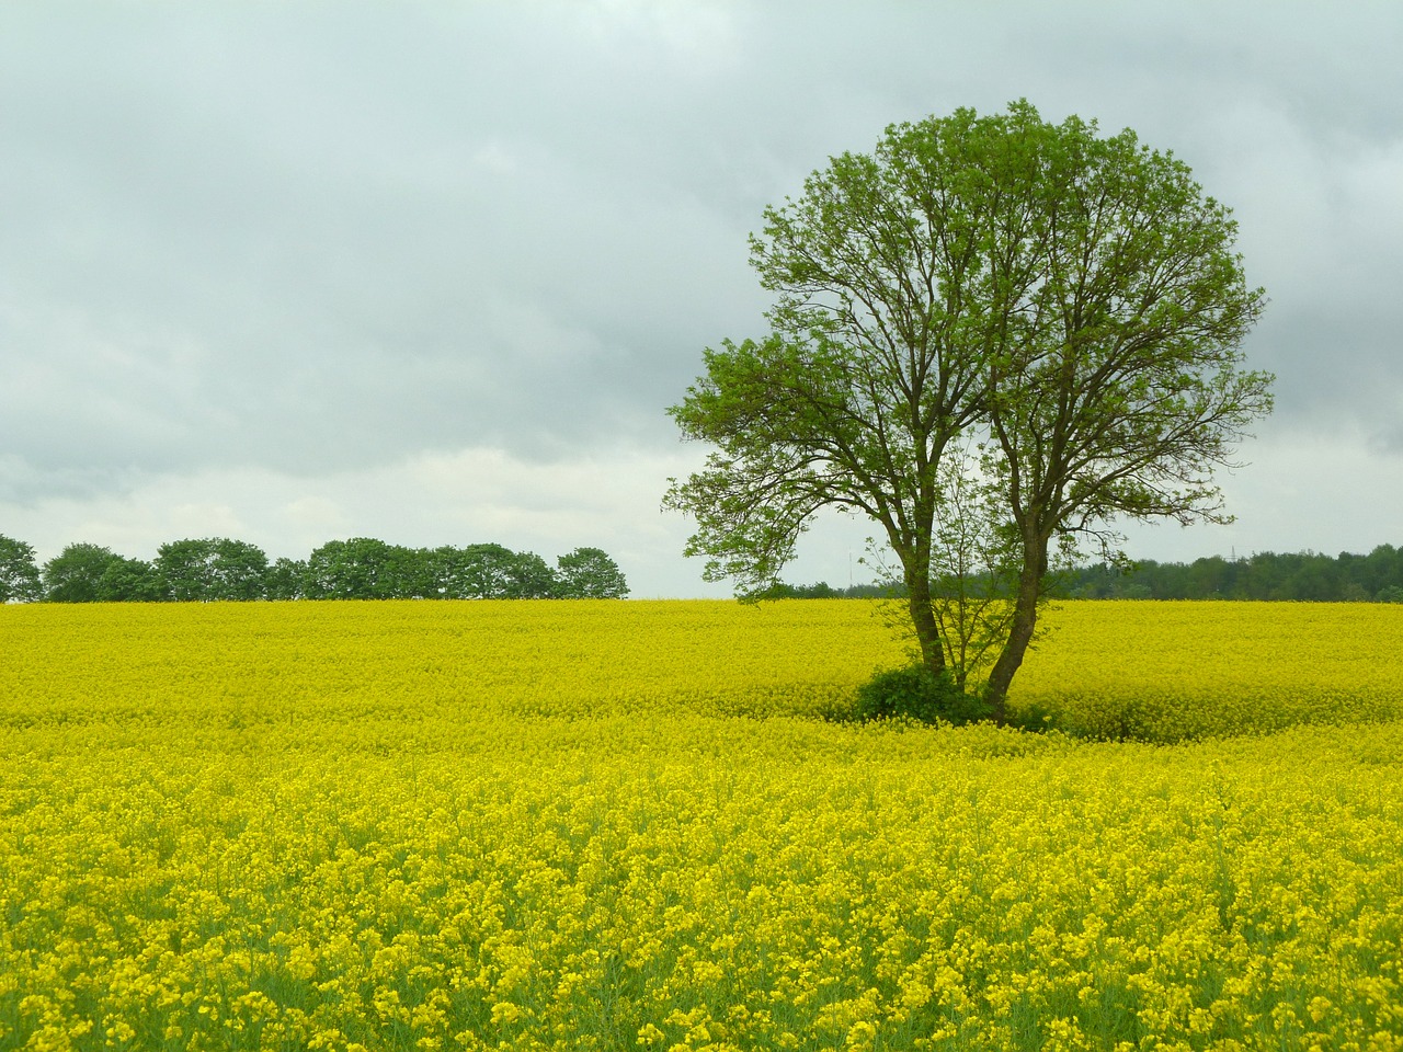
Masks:
[[[1235,209],[1277,411],[1237,522],[1129,553],[1403,544],[1403,6],[0,6],[0,533],[152,558],[352,536],[724,595],[665,407],[762,331],[760,210],[897,121],[1027,97]],[[873,530],[793,581],[867,579]]]

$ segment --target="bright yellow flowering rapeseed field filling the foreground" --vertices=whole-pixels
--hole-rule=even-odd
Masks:
[[[0,1048],[1403,1049],[1403,609],[0,607]],[[1114,741],[1148,738],[1159,743]]]

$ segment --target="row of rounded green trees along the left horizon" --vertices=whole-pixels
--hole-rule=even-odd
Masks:
[[[622,599],[623,571],[599,548],[551,567],[501,544],[407,548],[370,537],[333,540],[304,560],[268,560],[227,537],[161,544],[150,562],[98,544],[69,544],[42,567],[0,536],[0,602],[239,602],[257,599]]]

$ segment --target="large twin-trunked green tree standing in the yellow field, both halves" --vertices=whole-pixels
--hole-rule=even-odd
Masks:
[[[769,334],[707,349],[671,410],[714,446],[664,498],[696,519],[687,553],[745,593],[821,508],[864,513],[940,672],[941,464],[957,440],[985,443],[989,529],[1014,541],[986,685],[1002,718],[1061,543],[1108,546],[1115,516],[1223,518],[1211,471],[1270,410],[1271,380],[1240,369],[1264,297],[1235,236],[1172,154],[1026,101],[892,125],[871,156],[833,157],[751,238]]]

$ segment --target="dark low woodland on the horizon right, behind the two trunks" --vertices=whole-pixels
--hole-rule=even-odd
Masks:
[[[978,588],[978,582],[975,582]],[[936,589],[940,591],[939,588]],[[1061,575],[1058,592],[1070,599],[1256,599],[1268,602],[1403,603],[1403,548],[1381,544],[1368,555],[1341,551],[1221,555],[1193,562],[1142,560],[1127,567],[1097,564]],[[759,599],[905,598],[899,582],[832,588],[776,582]]]

